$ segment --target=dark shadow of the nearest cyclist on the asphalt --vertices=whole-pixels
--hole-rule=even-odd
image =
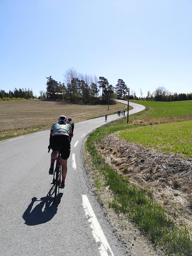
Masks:
[[[25,224],[28,226],[34,226],[50,221],[57,212],[58,205],[60,204],[63,193],[57,195],[56,204],[53,203],[54,198],[51,196],[45,196],[37,200],[36,197],[32,198],[31,203],[23,214]],[[34,202],[40,201],[33,210]]]

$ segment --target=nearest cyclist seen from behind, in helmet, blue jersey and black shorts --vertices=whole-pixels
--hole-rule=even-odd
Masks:
[[[54,162],[57,158],[58,146],[61,146],[61,166],[62,166],[62,182],[61,188],[65,186],[65,178],[67,174],[67,159],[70,156],[70,140],[72,138],[72,128],[67,123],[66,116],[59,116],[58,122],[51,126],[50,130],[50,144],[48,148],[52,149],[51,166],[49,174],[54,173]]]

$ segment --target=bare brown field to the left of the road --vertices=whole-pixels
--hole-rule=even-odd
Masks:
[[[64,114],[80,122],[97,116],[104,116],[125,108],[124,104],[80,105],[64,104],[59,101],[13,100],[0,102],[0,137],[20,135],[28,131],[50,128]]]

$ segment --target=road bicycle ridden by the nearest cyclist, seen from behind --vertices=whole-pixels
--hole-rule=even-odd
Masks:
[[[54,203],[56,203],[56,197],[57,197],[57,194],[59,194],[59,189],[60,189],[60,185],[61,185],[61,147],[60,146],[58,146],[56,166],[55,166],[55,171],[54,171],[54,175],[53,175],[53,181],[51,184],[53,184],[53,186],[55,187]],[[57,193],[57,191],[58,191],[58,193]]]

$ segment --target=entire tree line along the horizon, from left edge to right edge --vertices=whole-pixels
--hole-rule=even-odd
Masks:
[[[39,99],[63,100],[79,104],[114,104],[115,99],[128,98],[128,86],[122,79],[113,86],[104,76],[90,76],[77,73],[75,69],[68,69],[64,74],[64,82],[57,82],[52,76],[46,77],[46,91],[41,90]],[[0,100],[17,100],[34,98],[32,89],[16,88],[14,92],[0,90]],[[171,93],[164,87],[158,87],[154,92],[147,92],[143,97],[140,88],[140,97],[131,90],[130,99],[150,101],[178,101],[192,100],[192,93]]]

